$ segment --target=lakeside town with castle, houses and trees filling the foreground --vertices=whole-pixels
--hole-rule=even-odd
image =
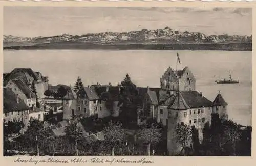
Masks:
[[[228,119],[220,91],[205,98],[189,67],[159,77],[53,86],[30,68],[4,73],[4,155],[251,155],[251,126]]]

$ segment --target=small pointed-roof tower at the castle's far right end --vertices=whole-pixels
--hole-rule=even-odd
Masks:
[[[227,114],[227,103],[223,99],[222,95],[220,94],[220,91],[216,98],[214,99],[214,108],[212,110],[212,113],[218,113],[219,117],[221,119],[228,119],[228,114]]]

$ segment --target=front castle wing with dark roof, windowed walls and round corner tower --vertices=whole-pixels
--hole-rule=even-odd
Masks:
[[[218,94],[216,98],[220,99]],[[224,101],[224,99],[223,99]],[[223,106],[225,102],[218,104],[218,107]],[[197,91],[181,91],[175,96],[168,106],[168,133],[167,133],[167,149],[169,155],[175,155],[181,150],[181,146],[176,141],[176,126],[187,124],[195,126],[199,132],[199,140],[203,140],[203,128],[205,123],[211,124],[212,114],[216,114],[216,100],[214,102],[205,98],[202,93]],[[220,111],[219,115],[222,115]]]

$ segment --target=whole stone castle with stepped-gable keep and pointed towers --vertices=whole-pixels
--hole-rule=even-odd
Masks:
[[[167,126],[167,149],[169,155],[180,152],[176,141],[176,126],[187,124],[195,126],[199,131],[199,140],[203,139],[205,123],[211,124],[211,116],[216,113],[227,119],[227,103],[220,92],[214,101],[210,101],[202,93],[196,91],[196,78],[188,67],[183,70],[168,68],[160,78],[161,88],[137,87],[143,105],[150,106],[148,118],[153,118],[163,126]],[[70,87],[63,97],[63,119],[73,116],[98,118],[118,117],[118,95],[120,87],[109,85],[92,85],[84,87],[79,96]],[[106,98],[113,100],[112,108],[106,106]],[[138,117],[138,125],[143,120]]]

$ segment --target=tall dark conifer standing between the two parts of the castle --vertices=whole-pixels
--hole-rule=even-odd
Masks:
[[[127,74],[121,82],[118,106],[120,106],[119,117],[127,125],[129,122],[137,122],[137,110],[140,104],[138,90]]]

